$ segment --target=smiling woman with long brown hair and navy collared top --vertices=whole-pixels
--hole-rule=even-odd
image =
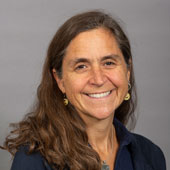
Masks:
[[[130,44],[109,15],[73,16],[48,49],[35,110],[5,148],[12,170],[165,170],[162,151],[125,125],[136,103]]]

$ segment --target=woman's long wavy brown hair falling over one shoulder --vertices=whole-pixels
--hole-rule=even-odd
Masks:
[[[53,77],[55,68],[62,77],[62,61],[66,48],[79,33],[99,27],[110,30],[117,40],[130,69],[131,99],[124,101],[115,111],[115,117],[124,125],[134,116],[136,93],[130,43],[110,15],[90,11],[73,16],[57,31],[48,48],[43,67],[42,80],[37,90],[38,100],[32,113],[14,125],[6,138],[4,148],[12,154],[22,145],[29,146],[29,153],[39,151],[54,168],[69,166],[76,170],[99,170],[100,157],[88,146],[86,125],[74,106],[63,103],[63,94]]]

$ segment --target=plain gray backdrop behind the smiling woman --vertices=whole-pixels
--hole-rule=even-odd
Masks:
[[[0,144],[8,124],[21,120],[34,101],[57,28],[89,9],[105,9],[123,21],[139,97],[135,132],[162,148],[170,168],[169,0],[0,0]],[[10,169],[10,159],[0,150],[0,169]]]

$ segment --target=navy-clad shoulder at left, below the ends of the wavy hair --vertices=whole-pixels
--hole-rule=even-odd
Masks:
[[[27,147],[16,152],[11,170],[52,170],[39,152],[27,153]]]

